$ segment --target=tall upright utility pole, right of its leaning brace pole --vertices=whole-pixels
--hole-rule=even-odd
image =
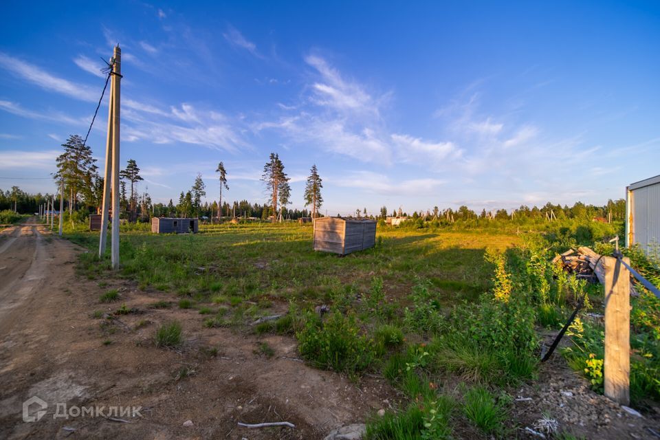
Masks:
[[[112,65],[112,234],[111,263],[119,268],[119,123],[120,123],[120,80],[122,74],[122,50],[115,46]]]

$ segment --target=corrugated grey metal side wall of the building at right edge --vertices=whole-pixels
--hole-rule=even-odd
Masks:
[[[632,237],[646,252],[660,243],[660,184],[632,190]]]

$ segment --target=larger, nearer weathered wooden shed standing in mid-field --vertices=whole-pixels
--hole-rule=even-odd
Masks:
[[[376,222],[363,217],[320,217],[314,221],[314,250],[346,255],[373,248]]]

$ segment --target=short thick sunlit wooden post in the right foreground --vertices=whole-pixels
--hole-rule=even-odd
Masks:
[[[605,269],[605,395],[630,403],[630,272],[621,261],[603,256]],[[624,258],[629,265],[630,259]]]

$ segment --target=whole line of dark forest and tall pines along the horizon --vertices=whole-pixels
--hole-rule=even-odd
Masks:
[[[67,142],[62,144],[63,153],[57,157],[57,172],[54,179],[58,188],[64,187],[69,213],[80,210],[83,212],[100,212],[103,197],[103,177],[98,174],[96,159],[92,156],[91,148],[85,145],[82,137],[71,135]],[[223,190],[230,189],[228,178],[230,173],[223,162],[216,168],[220,188],[217,201],[204,201],[206,185],[201,174],[195,177],[189,190],[181,191],[177,203],[170,199],[169,203],[153,203],[151,196],[145,190],[140,193],[138,184],[143,181],[140,167],[134,159],[126,162],[126,168],[120,170],[120,218],[129,221],[149,221],[151,217],[201,217],[214,219],[219,217],[249,217],[270,221],[284,219],[298,219],[300,217],[320,217],[319,210],[323,203],[322,179],[316,164],[311,166],[309,177],[305,183],[304,201],[305,209],[289,209],[291,204],[290,178],[285,172],[285,166],[277,153],[271,153],[263,167],[261,182],[265,188],[267,201],[265,203],[252,203],[248,200],[223,201]],[[0,210],[10,209],[17,212],[37,212],[39,206],[51,195],[31,195],[17,186],[10,190],[0,190]],[[309,209],[307,209],[309,207]],[[522,205],[514,210],[485,209],[477,213],[467,206],[460,206],[454,210],[438,206],[432,209],[412,212],[408,215],[401,208],[388,214],[383,206],[378,214],[369,213],[366,208],[356,209],[356,217],[371,217],[372,219],[386,219],[392,217],[412,217],[412,219],[443,220],[448,222],[470,221],[476,219],[576,219],[602,217],[611,221],[625,219],[626,203],[623,199],[608,200],[605,206],[586,205],[580,201],[573,206],[546,203],[540,208]]]

